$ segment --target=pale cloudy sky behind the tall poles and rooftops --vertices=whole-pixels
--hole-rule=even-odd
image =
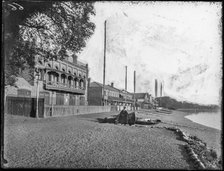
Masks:
[[[221,3],[104,1],[94,7],[96,29],[78,55],[91,81],[103,83],[106,20],[106,84],[124,89],[127,66],[129,92],[136,71],[136,92],[155,96],[157,79],[164,96],[220,103]]]

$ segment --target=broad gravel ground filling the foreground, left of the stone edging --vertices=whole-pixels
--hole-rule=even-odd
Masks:
[[[111,114],[39,120],[6,116],[7,167],[190,169],[184,142],[172,131],[96,122]]]

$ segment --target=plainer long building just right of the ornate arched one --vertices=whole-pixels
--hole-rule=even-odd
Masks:
[[[117,110],[122,110],[126,106],[127,110],[133,108],[133,95],[125,90],[115,88],[113,83],[104,86],[98,82],[91,82],[88,87],[88,103],[89,105],[113,105]]]

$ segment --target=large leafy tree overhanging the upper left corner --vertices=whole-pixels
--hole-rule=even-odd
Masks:
[[[95,15],[91,2],[28,2],[21,1],[24,11],[9,13],[5,4],[5,64],[7,75],[34,66],[34,57],[45,60],[63,59],[69,53],[79,53],[93,34]]]

